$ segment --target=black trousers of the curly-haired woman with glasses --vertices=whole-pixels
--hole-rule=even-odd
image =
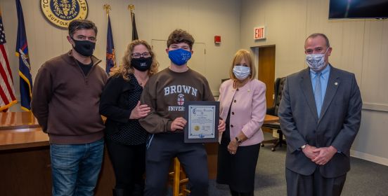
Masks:
[[[135,186],[143,187],[145,172],[145,144],[122,145],[106,140],[106,147],[116,176],[116,189],[129,193]]]

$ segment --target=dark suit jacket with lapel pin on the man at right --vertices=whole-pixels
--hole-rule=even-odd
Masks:
[[[285,167],[298,174],[335,178],[350,169],[349,151],[361,122],[362,100],[354,73],[330,65],[328,86],[318,119],[309,68],[287,76],[278,116],[287,139]],[[300,151],[304,144],[334,146],[340,153],[318,166]]]

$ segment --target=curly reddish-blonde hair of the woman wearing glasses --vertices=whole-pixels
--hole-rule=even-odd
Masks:
[[[151,57],[153,58],[153,64],[151,64],[150,69],[148,69],[148,76],[153,76],[153,74],[157,73],[157,69],[159,68],[159,62],[157,62],[155,53],[153,52],[151,46],[143,40],[134,40],[128,44],[127,49],[124,52],[124,57],[122,57],[122,62],[117,69],[114,69],[110,72],[110,76],[122,76],[124,80],[129,81],[129,73],[134,73],[134,67],[131,65],[132,52],[136,45],[144,45],[147,48],[148,52],[150,52]]]

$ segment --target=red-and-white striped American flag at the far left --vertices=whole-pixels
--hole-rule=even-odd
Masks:
[[[13,88],[11,67],[9,66],[6,52],[6,34],[4,33],[3,19],[0,12],[0,111],[7,111],[18,101]]]

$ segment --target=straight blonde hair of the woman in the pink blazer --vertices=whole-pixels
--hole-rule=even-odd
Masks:
[[[252,65],[253,59],[252,55],[250,54],[250,51],[242,49],[235,52],[235,57],[233,58],[231,69],[229,70],[229,76],[231,76],[232,80],[238,80],[233,74],[233,67],[236,64],[240,64],[243,59],[245,59],[245,62],[247,62],[247,66],[250,68],[250,76],[248,76],[248,78],[250,78],[250,80],[253,80],[254,76],[256,76],[256,68],[254,65]]]

